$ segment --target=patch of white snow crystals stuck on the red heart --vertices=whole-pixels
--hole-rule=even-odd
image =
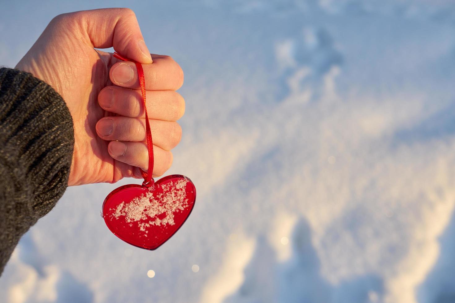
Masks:
[[[129,203],[123,201],[114,209],[112,216],[116,219],[119,219],[120,216],[125,216],[126,222],[149,220],[148,223],[137,223],[140,230],[146,233],[148,233],[146,228],[151,225],[174,225],[174,213],[188,206],[185,190],[187,183],[186,179],[179,179],[177,182],[159,184],[158,186],[161,186],[162,193],[154,197],[153,192],[149,191],[135,197]],[[158,216],[161,214],[166,214],[166,216],[159,219]]]

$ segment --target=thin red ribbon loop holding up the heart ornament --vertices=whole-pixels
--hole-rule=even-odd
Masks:
[[[131,61],[136,64],[137,68],[137,75],[139,76],[139,84],[141,85],[141,93],[142,93],[142,99],[144,100],[144,110],[145,110],[145,131],[146,131],[146,137],[147,137],[147,149],[148,149],[148,171],[147,173],[143,171],[141,168],[141,174],[142,177],[144,178],[144,183],[142,185],[150,187],[153,185],[154,182],[152,181],[152,172],[153,172],[153,142],[152,142],[152,130],[150,129],[150,123],[148,121],[148,114],[147,114],[147,104],[146,104],[146,99],[145,99],[145,77],[144,77],[144,70],[142,69],[142,65],[139,62],[136,62],[131,59],[126,59],[125,57],[122,57],[121,55],[117,54],[114,52],[114,57],[122,60],[122,61]]]

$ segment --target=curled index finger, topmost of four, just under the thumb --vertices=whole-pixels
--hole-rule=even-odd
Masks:
[[[170,56],[152,55],[152,64],[142,64],[147,90],[177,90],[183,84],[183,71]],[[120,61],[112,65],[109,76],[113,84],[139,89],[136,64]]]

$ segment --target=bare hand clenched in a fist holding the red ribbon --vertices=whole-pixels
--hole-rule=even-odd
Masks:
[[[181,138],[175,121],[182,117],[185,103],[175,90],[182,86],[182,69],[171,57],[150,55],[134,13],[102,9],[58,15],[16,69],[50,84],[70,109],[75,146],[69,185],[142,178],[138,167],[148,168],[136,65],[94,49],[111,46],[144,69],[154,176],[169,169],[169,150]]]

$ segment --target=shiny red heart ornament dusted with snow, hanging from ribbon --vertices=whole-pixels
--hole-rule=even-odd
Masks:
[[[118,238],[154,250],[187,220],[196,201],[192,181],[180,174],[159,179],[151,187],[128,184],[114,189],[103,203],[103,218]]]

